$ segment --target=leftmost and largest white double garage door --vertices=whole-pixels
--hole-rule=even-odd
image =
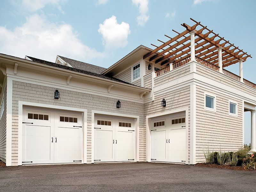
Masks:
[[[23,108],[22,164],[82,161],[82,114]]]

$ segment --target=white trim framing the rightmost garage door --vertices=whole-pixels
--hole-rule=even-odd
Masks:
[[[161,118],[165,118],[161,116],[170,116],[170,115],[172,115],[172,117],[176,117],[176,116],[180,116],[179,113],[182,113],[182,112],[183,113],[185,112],[185,118],[186,118],[186,163],[185,164],[188,164],[188,108],[187,107],[146,116],[146,146],[147,146],[146,159],[148,162],[151,162],[151,133],[150,133],[151,132],[150,130],[152,128],[151,118],[159,117],[159,119],[161,119]]]

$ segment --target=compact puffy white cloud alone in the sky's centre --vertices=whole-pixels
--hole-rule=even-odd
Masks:
[[[118,24],[116,16],[113,15],[99,26],[98,32],[102,35],[102,43],[105,46],[105,50],[125,47],[127,45],[128,35],[131,33],[128,23],[122,22]]]

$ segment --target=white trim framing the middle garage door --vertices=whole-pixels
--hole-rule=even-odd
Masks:
[[[122,113],[111,113],[111,112],[92,110],[92,128],[95,127],[95,124],[94,124],[95,114],[134,118],[134,129],[135,129],[135,156],[134,156],[134,161],[138,162],[139,161],[140,117],[139,116],[134,116],[134,115],[122,114]],[[94,130],[92,131],[92,149],[91,149],[91,151],[92,151],[91,163],[94,163]]]

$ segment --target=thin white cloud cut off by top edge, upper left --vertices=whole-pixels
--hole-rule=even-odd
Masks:
[[[23,7],[26,7],[28,11],[30,12],[35,12],[39,9],[44,8],[45,5],[47,4],[52,4],[57,6],[57,8],[61,11],[61,6],[60,3],[64,2],[65,0],[22,0],[21,5]]]

